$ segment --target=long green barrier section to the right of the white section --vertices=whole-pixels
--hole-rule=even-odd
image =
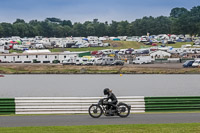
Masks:
[[[200,111],[200,96],[145,97],[145,112]]]

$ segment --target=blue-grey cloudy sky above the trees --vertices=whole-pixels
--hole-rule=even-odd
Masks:
[[[199,0],[0,0],[0,22],[47,17],[81,23],[95,18],[100,22],[132,22],[144,16],[169,16],[175,7],[190,10],[198,5]]]

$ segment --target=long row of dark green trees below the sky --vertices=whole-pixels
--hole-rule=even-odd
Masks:
[[[143,17],[133,22],[99,22],[98,19],[84,23],[59,18],[44,21],[31,20],[26,23],[17,19],[14,23],[0,23],[0,37],[67,37],[67,36],[141,36],[150,33],[200,35],[200,6],[191,10],[173,8],[170,16]]]

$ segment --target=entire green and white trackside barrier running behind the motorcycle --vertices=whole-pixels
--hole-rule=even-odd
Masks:
[[[102,97],[16,97],[0,98],[0,114],[88,113],[91,104]],[[131,105],[131,113],[162,111],[200,111],[200,96],[118,97]]]

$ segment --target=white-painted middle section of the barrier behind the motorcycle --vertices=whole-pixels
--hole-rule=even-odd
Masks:
[[[91,104],[102,97],[16,97],[16,114],[88,113]],[[131,105],[131,112],[144,112],[143,96],[118,97],[119,102]]]

